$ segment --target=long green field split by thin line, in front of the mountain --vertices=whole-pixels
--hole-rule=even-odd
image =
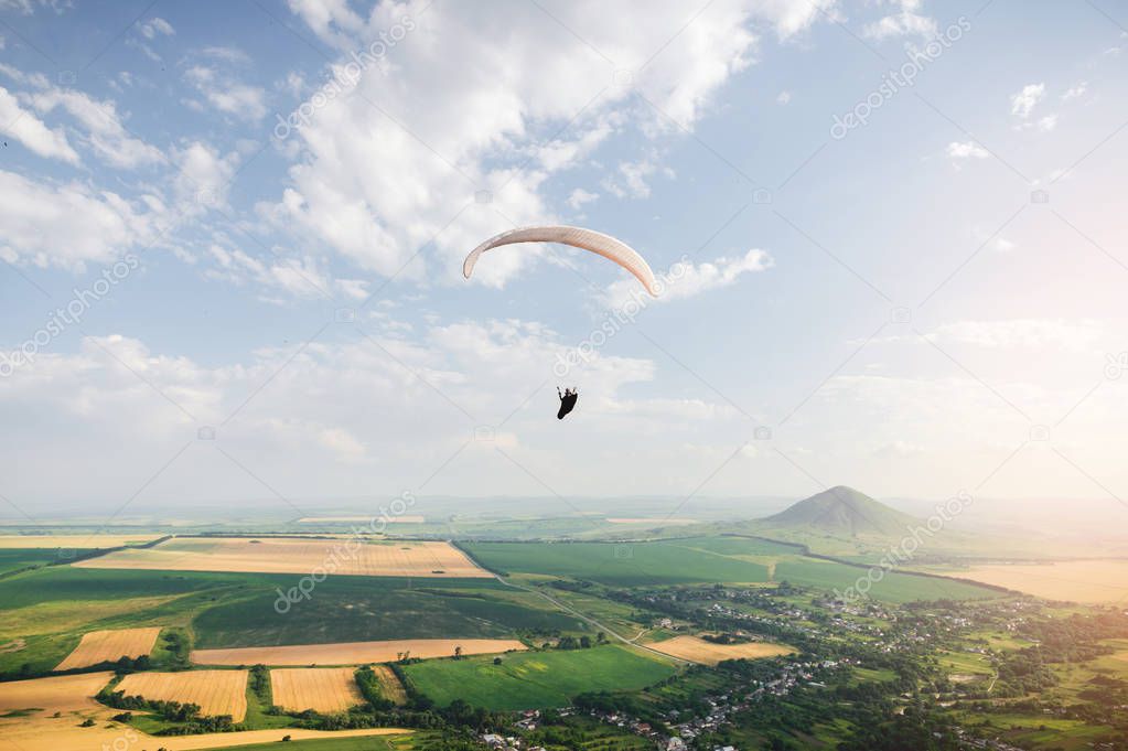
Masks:
[[[482,565],[525,573],[590,580],[613,586],[702,582],[793,584],[840,591],[866,569],[800,554],[793,545],[714,537],[653,542],[467,542]],[[997,597],[986,587],[940,577],[887,572],[870,595],[893,602]]]

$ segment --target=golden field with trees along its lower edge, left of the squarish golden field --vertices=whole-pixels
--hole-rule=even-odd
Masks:
[[[183,673],[131,673],[117,690],[159,701],[199,704],[204,716],[231,715],[240,722],[247,714],[247,671],[193,670]]]

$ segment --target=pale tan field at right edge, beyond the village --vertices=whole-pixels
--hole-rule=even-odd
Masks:
[[[949,573],[1048,600],[1120,602],[1128,598],[1128,560],[990,564]]]

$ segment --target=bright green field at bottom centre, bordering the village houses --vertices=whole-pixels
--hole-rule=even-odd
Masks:
[[[669,678],[672,664],[620,646],[433,660],[406,665],[416,690],[440,706],[465,699],[487,709],[562,707],[585,691],[641,689]]]

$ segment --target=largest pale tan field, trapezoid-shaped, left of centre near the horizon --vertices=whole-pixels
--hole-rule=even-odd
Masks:
[[[80,560],[81,568],[487,577],[448,542],[312,538],[176,538],[153,548]]]

